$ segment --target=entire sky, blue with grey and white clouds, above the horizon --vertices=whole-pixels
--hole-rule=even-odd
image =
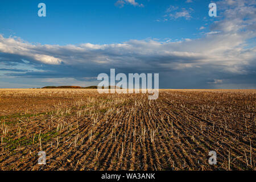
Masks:
[[[0,88],[97,85],[115,68],[159,73],[159,88],[256,89],[255,30],[255,0],[1,0]]]

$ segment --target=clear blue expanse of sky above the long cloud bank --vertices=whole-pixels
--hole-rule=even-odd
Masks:
[[[116,0],[43,1],[47,16],[37,16],[42,1],[1,1],[1,33],[16,35],[28,42],[42,44],[121,43],[130,39],[182,39],[200,36],[198,28],[212,20],[208,1],[138,1],[143,7],[115,6]],[[185,18],[164,19],[170,6],[193,9]],[[204,20],[204,17],[207,20]]]

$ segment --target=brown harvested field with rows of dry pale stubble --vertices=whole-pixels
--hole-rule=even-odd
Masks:
[[[256,90],[0,89],[1,170],[255,170]],[[46,165],[38,152],[46,152]],[[216,151],[217,164],[208,163]]]

